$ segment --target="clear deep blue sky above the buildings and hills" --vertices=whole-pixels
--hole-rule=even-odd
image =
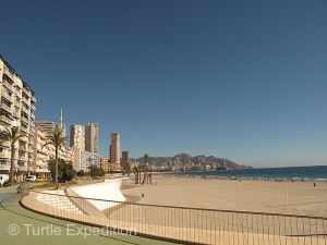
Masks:
[[[327,2],[1,1],[36,120],[99,123],[131,157],[327,163]]]

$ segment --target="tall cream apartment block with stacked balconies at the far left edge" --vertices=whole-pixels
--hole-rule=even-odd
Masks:
[[[33,135],[35,93],[0,56],[0,130],[19,126],[26,137],[16,142],[14,156],[15,177],[22,180],[27,174],[33,160]],[[8,174],[11,163],[11,145],[0,143],[0,173]]]

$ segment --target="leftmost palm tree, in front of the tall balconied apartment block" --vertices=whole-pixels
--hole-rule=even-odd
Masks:
[[[10,142],[11,145],[11,164],[10,164],[10,185],[13,185],[13,175],[14,175],[14,159],[15,159],[15,144],[20,138],[26,137],[24,133],[20,131],[20,127],[12,126],[5,127],[4,131],[1,132],[1,139]]]

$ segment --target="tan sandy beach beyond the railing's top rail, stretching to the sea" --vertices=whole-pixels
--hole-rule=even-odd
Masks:
[[[327,217],[326,182],[218,180],[154,175],[154,184],[134,184],[121,192],[128,201],[205,209]],[[144,197],[142,197],[142,193]]]

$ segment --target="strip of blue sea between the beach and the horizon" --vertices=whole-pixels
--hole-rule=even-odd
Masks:
[[[300,181],[327,181],[327,166],[239,169],[223,171],[174,172],[175,175],[229,179],[282,179]]]

